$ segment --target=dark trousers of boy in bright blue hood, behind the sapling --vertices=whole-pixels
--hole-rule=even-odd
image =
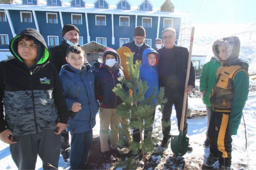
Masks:
[[[153,131],[153,123],[155,120],[155,114],[156,114],[156,110],[151,115],[152,116],[152,119],[150,122],[151,126],[144,128],[144,139],[151,137],[151,135],[149,136],[149,133],[152,134],[152,131]],[[133,139],[133,141],[140,143],[140,130],[139,129],[133,129],[132,139]]]

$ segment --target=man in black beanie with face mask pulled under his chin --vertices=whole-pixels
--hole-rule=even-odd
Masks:
[[[62,41],[61,44],[55,46],[53,48],[49,48],[49,52],[51,54],[51,63],[53,63],[58,71],[62,65],[67,64],[66,61],[66,53],[67,49],[70,46],[79,46],[79,29],[71,24],[67,24],[62,28]],[[88,61],[84,62],[85,65],[90,65]],[[63,130],[61,133],[61,151],[60,151],[63,160],[66,163],[69,163],[69,155],[70,155],[70,144],[69,144],[69,135],[66,130]]]

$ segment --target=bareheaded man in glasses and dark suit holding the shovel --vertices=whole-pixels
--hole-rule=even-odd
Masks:
[[[164,29],[162,32],[162,39],[164,47],[156,50],[160,55],[158,63],[158,77],[159,87],[165,88],[165,97],[167,98],[168,102],[164,104],[164,110],[162,111],[162,130],[164,137],[161,146],[168,147],[168,144],[170,143],[171,114],[173,104],[176,110],[178,129],[180,130],[186,71],[188,66],[188,49],[174,44],[176,40],[176,31],[173,28]],[[195,68],[191,62],[188,87],[186,88],[186,91],[188,93],[192,92],[194,86]],[[187,108],[188,99],[186,104],[186,112]],[[187,113],[185,113],[185,115],[187,115]],[[185,116],[183,136],[187,135],[187,131],[188,123],[187,116]],[[193,150],[190,144],[188,145],[188,150]]]

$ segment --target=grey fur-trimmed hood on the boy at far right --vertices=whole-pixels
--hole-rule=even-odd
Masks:
[[[218,59],[220,59],[218,46],[227,48],[226,60],[222,61],[224,64],[238,58],[240,52],[240,40],[238,37],[224,37],[213,42],[212,52]]]

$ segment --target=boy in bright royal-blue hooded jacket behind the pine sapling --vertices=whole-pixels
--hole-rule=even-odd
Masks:
[[[148,85],[148,90],[145,92],[145,99],[147,100],[152,94],[154,87],[156,88],[156,94],[159,93],[159,84],[158,84],[158,74],[156,65],[159,61],[159,54],[153,48],[146,48],[142,54],[142,64],[140,66],[140,76],[139,78],[142,82],[146,81]],[[156,98],[153,99],[152,104],[156,102]],[[152,122],[153,124],[155,119],[155,111],[152,113]],[[144,139],[150,138],[153,127],[146,128],[144,130]],[[140,133],[139,129],[133,129],[132,138],[135,142],[140,142]],[[136,154],[136,153],[135,153]]]

